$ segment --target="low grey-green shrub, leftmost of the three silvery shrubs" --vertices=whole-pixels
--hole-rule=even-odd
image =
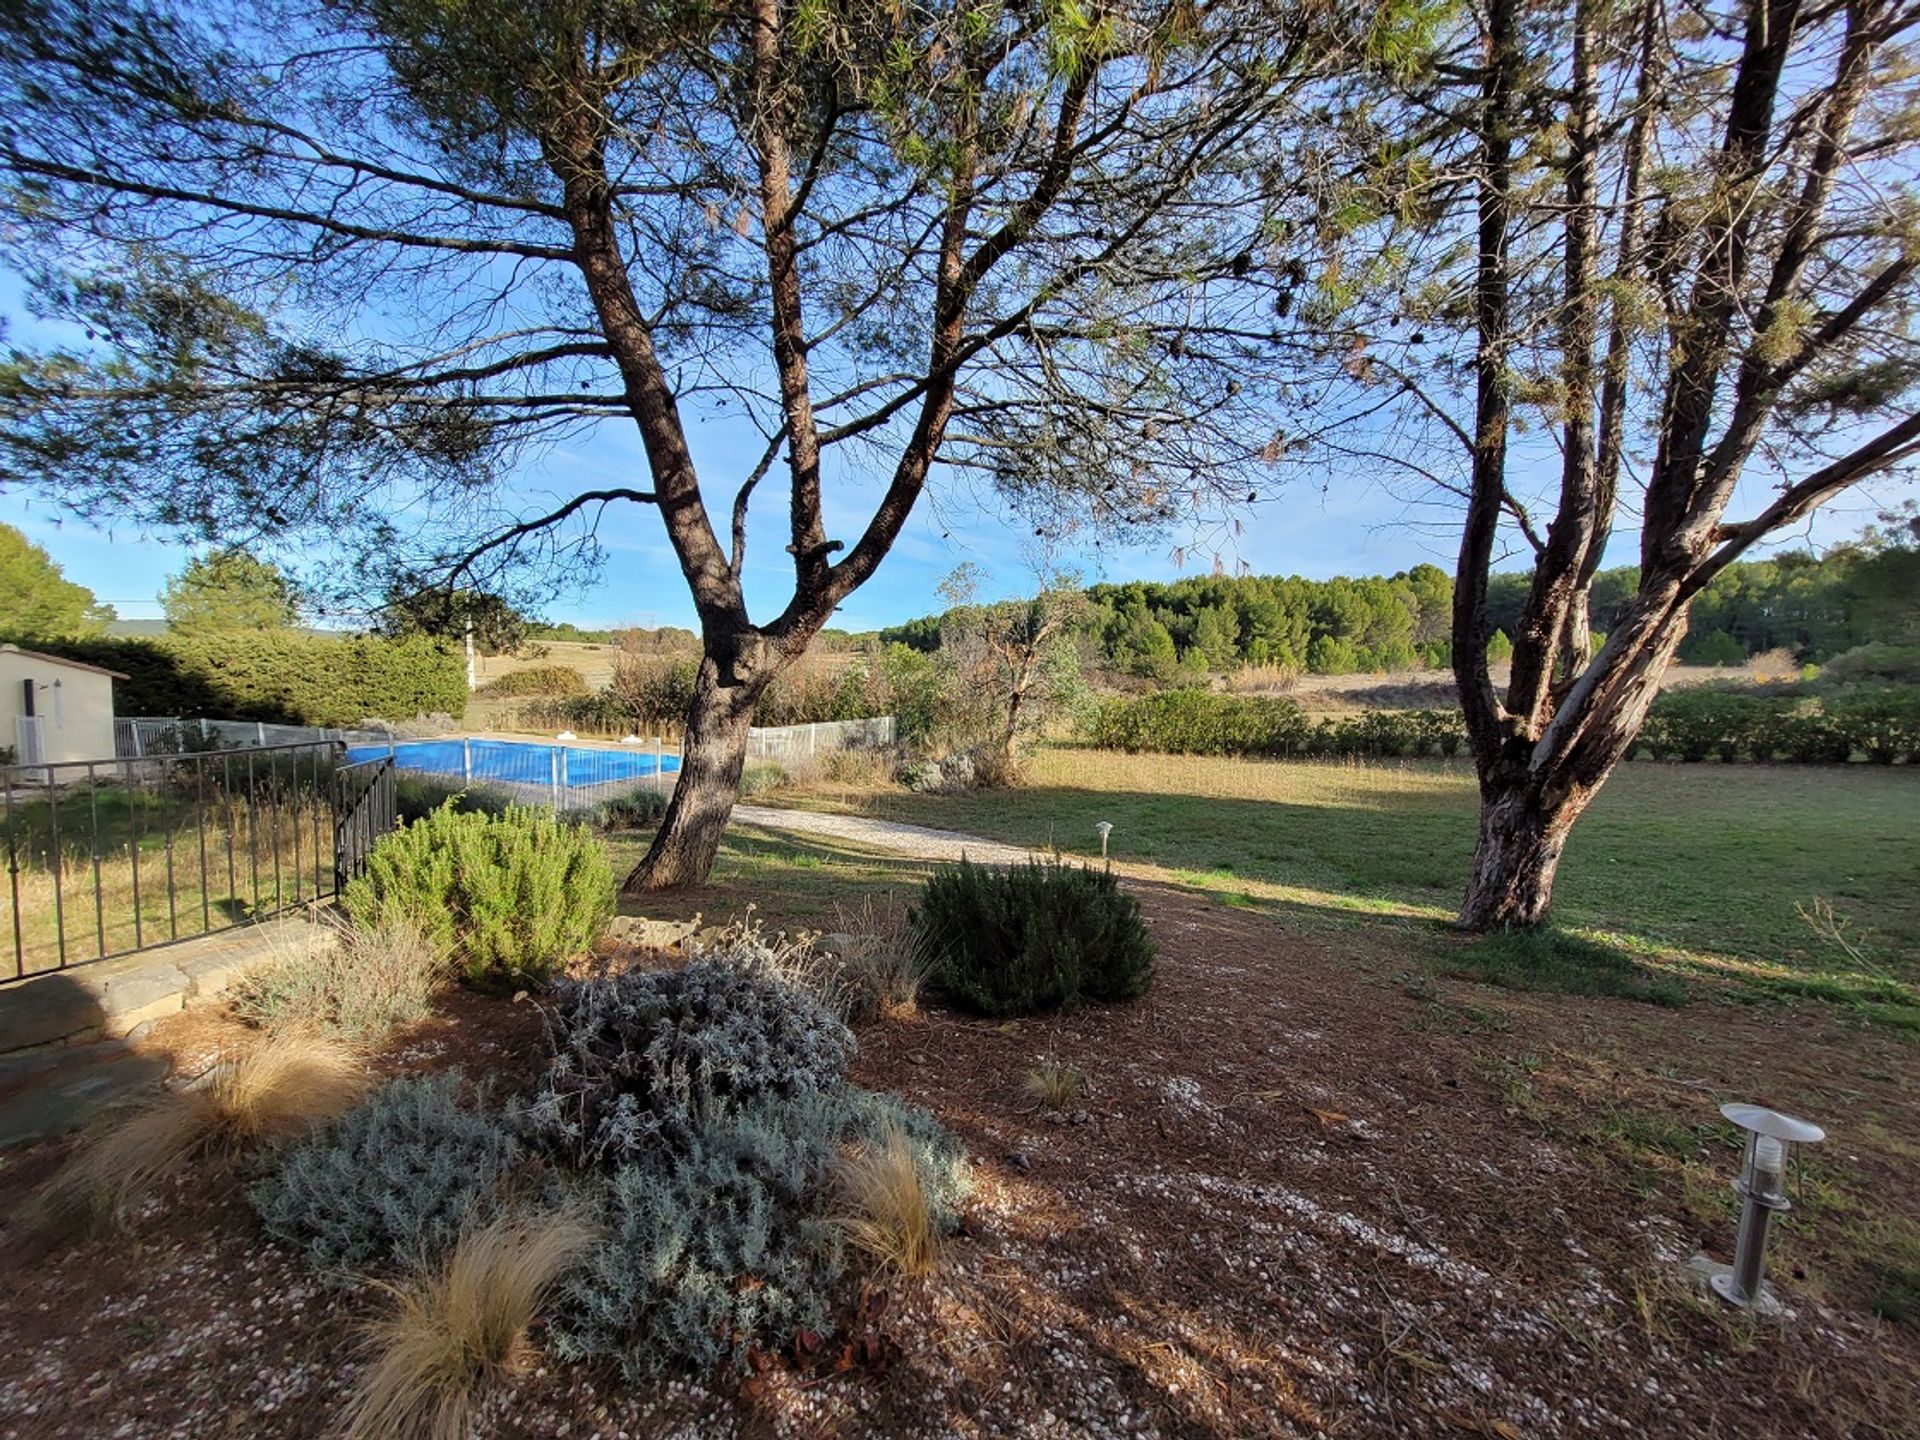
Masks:
[[[461,1104],[457,1071],[397,1079],[280,1156],[250,1192],[267,1231],[317,1269],[417,1265],[499,1200],[520,1142]]]

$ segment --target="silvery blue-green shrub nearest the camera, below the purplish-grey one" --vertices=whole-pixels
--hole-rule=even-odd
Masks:
[[[555,1317],[566,1359],[612,1357],[634,1379],[739,1365],[824,1331],[847,1254],[828,1217],[843,1146],[897,1129],[937,1227],[958,1227],[960,1142],[924,1110],[841,1085],[762,1096],[685,1144],[639,1150],[599,1190],[609,1240],[574,1273]]]

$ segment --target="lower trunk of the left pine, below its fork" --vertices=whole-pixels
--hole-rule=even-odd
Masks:
[[[624,895],[699,885],[707,879],[739,797],[753,705],[764,687],[766,676],[724,684],[722,668],[712,657],[701,660],[674,799],[666,803],[666,816],[645,858],[626,877]]]

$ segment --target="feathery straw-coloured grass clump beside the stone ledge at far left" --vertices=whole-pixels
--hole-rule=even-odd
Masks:
[[[125,1225],[156,1185],[196,1158],[225,1158],[300,1135],[351,1108],[367,1071],[334,1039],[269,1035],[192,1089],[167,1091],[84,1140],[31,1219],[42,1231]]]

